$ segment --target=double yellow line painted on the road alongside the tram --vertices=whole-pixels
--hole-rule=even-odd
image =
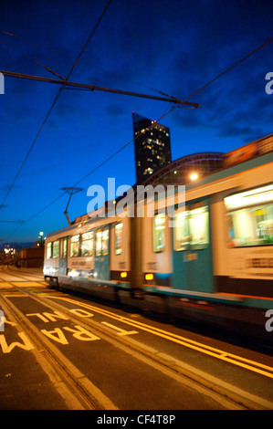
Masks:
[[[221,351],[219,349],[215,349],[214,347],[207,346],[206,344],[202,344],[200,342],[189,340],[187,338],[184,338],[180,335],[173,334],[171,332],[160,330],[158,328],[150,327],[149,325],[146,325],[145,323],[139,322],[139,321],[133,321],[128,318],[124,318],[123,316],[119,316],[115,313],[112,313],[108,310],[104,309],[98,309],[97,307],[91,306],[89,304],[84,304],[79,301],[76,301],[71,298],[65,298],[65,297],[54,297],[49,296],[48,298],[57,298],[61,300],[68,301],[72,304],[77,304],[79,307],[83,307],[86,309],[91,309],[94,312],[97,312],[99,314],[102,314],[103,316],[107,316],[110,319],[115,319],[118,321],[121,321],[122,323],[125,323],[127,325],[131,325],[134,328],[137,328],[139,330],[145,330],[146,332],[152,333],[153,335],[156,335],[158,337],[161,337],[165,340],[171,340],[177,344],[183,345],[184,347],[187,347],[189,349],[193,349],[194,351],[200,351],[202,353],[205,353],[209,356],[212,356],[216,359],[219,359],[221,361],[226,361],[229,363],[233,363],[236,366],[240,366],[242,368],[245,368],[249,371],[254,371],[259,374],[265,375],[266,377],[273,379],[273,368],[269,367],[268,365],[264,365],[262,363],[256,362],[256,361],[250,361],[246,358],[242,358],[241,356],[237,356],[232,353],[228,353],[226,351]]]

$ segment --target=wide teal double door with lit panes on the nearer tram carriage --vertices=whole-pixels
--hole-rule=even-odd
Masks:
[[[208,201],[191,203],[173,228],[173,287],[213,292]]]

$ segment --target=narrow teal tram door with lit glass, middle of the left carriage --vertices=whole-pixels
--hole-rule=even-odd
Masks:
[[[95,238],[95,278],[110,279],[110,226],[97,229]]]

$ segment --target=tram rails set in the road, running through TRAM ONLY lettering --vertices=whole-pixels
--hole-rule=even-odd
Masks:
[[[14,273],[13,273],[14,275]],[[27,281],[28,274],[16,274],[17,278],[23,278]],[[41,333],[40,330],[23,314],[22,311],[16,308],[11,302],[12,297],[25,296],[35,300],[38,304],[45,306],[48,311],[56,314],[65,315],[74,326],[81,327],[83,330],[92,331],[93,335],[100,337],[102,340],[110,342],[114,347],[121,351],[133,354],[138,360],[151,365],[158,371],[163,372],[168,377],[175,379],[198,392],[214,399],[227,409],[272,409],[273,404],[265,401],[255,395],[240,392],[239,389],[230,390],[230,386],[225,384],[219,385],[212,377],[208,380],[201,371],[191,371],[184,365],[183,362],[173,359],[160,351],[153,350],[152,347],[147,347],[129,338],[117,336],[117,332],[112,330],[112,326],[105,322],[100,323],[94,319],[83,318],[77,313],[71,314],[71,311],[58,301],[58,295],[37,294],[27,288],[15,285],[16,281],[6,281],[10,288],[6,293],[0,293],[1,306],[11,319],[16,319],[17,323],[23,327],[31,341],[35,344],[40,360],[44,359],[49,367],[49,372],[54,374],[53,379],[58,380],[58,390],[68,403],[69,409],[91,409],[91,410],[116,410],[118,407],[100,391],[89,378],[86,377],[68,358],[52,344],[50,340]],[[18,280],[19,282],[19,280]],[[63,295],[62,295],[63,296]],[[68,298],[69,299],[69,298]],[[92,306],[90,306],[91,308]],[[119,319],[118,316],[116,316]],[[123,318],[124,319],[124,318]],[[133,329],[140,328],[141,324],[134,321]],[[151,328],[152,330],[152,328]],[[154,329],[153,329],[154,330]],[[156,330],[154,330],[156,332]],[[207,348],[209,350],[209,348]],[[42,358],[41,358],[42,354]],[[224,358],[224,356],[223,356]],[[228,359],[228,356],[227,356]],[[42,362],[45,364],[45,362]],[[259,368],[259,371],[268,371],[268,368]],[[269,372],[268,372],[269,373]],[[273,377],[273,373],[272,373]]]

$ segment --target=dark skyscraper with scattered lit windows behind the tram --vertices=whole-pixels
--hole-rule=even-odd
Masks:
[[[172,162],[170,129],[132,112],[137,183]]]

